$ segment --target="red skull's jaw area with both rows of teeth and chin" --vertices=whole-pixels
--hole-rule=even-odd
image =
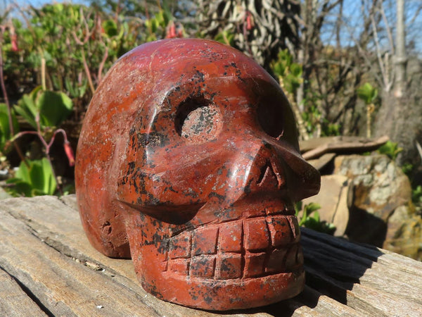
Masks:
[[[142,225],[154,221],[146,218]],[[295,216],[270,213],[173,236],[170,228],[162,227],[155,238],[146,239],[141,230],[130,231],[132,259],[143,288],[167,302],[210,310],[245,309],[294,297],[303,289]]]

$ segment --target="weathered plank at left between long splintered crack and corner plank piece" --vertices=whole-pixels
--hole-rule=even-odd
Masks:
[[[0,266],[25,285],[49,314],[160,316],[138,294],[60,254],[7,213],[1,214],[0,237]]]

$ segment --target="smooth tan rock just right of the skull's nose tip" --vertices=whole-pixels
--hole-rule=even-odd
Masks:
[[[344,175],[321,176],[319,194],[303,200],[303,204],[314,202],[321,206],[319,216],[327,223],[335,225],[334,235],[343,236],[349,222],[347,192],[350,180]]]

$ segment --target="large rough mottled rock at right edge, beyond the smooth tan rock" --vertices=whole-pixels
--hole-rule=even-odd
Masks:
[[[421,259],[422,219],[401,168],[381,154],[338,156],[334,165],[334,173],[350,181],[347,237]]]

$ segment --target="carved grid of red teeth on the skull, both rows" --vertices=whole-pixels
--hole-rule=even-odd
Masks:
[[[163,271],[190,278],[257,278],[302,266],[295,216],[272,215],[208,224],[169,238]]]

